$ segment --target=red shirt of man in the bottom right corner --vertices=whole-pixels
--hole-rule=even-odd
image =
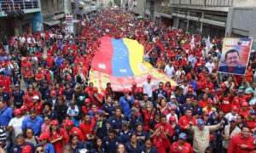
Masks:
[[[241,133],[236,134],[230,141],[228,153],[248,153],[251,150],[254,150],[254,138],[249,136],[247,139],[242,138]],[[241,144],[246,144],[247,149],[242,150]]]

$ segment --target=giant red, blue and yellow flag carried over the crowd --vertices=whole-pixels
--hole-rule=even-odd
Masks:
[[[114,91],[131,88],[133,82],[137,82],[139,86],[146,81],[148,75],[155,84],[169,81],[172,86],[177,85],[166,74],[143,62],[143,45],[136,40],[102,37],[101,42],[90,71],[90,82],[94,82],[100,90],[106,88],[107,82],[112,83]]]

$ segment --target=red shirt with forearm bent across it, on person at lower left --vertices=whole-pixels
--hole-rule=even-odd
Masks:
[[[62,140],[65,140],[65,144],[67,144],[68,143],[68,135],[67,135],[67,133],[65,133],[65,129],[63,129],[63,128],[60,128],[60,133],[53,133],[52,136],[49,137],[48,141],[50,142],[52,140],[58,139],[61,136],[63,136]],[[59,140],[59,141],[57,141],[53,144],[53,146],[55,147],[55,152],[62,152],[63,151],[62,140]]]

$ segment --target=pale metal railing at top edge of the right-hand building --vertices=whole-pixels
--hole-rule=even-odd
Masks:
[[[171,0],[171,4],[230,7],[233,5],[233,0]]]

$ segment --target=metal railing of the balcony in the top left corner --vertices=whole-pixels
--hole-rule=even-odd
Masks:
[[[39,0],[0,0],[0,11],[39,8]]]

